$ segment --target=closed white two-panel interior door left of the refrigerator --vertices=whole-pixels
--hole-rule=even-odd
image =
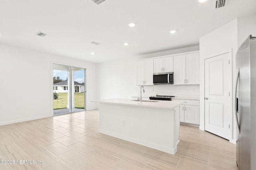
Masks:
[[[205,130],[230,140],[232,68],[230,53],[205,60]]]

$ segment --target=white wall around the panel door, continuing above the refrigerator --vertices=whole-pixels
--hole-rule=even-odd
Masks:
[[[256,36],[256,13],[230,21],[200,38],[200,129],[204,130],[204,59],[232,49],[232,92],[234,92],[236,52],[249,35]],[[234,117],[232,119],[232,143],[235,143],[236,123]]]

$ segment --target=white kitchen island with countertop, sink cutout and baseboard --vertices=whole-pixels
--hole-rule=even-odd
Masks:
[[[179,105],[183,102],[138,102],[132,99],[92,102],[98,102],[100,106],[100,133],[170,154],[177,152]]]

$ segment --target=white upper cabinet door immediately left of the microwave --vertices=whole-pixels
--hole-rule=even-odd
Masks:
[[[144,85],[153,85],[153,59],[144,61]]]

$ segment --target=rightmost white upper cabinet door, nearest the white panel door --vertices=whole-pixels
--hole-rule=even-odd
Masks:
[[[186,84],[199,84],[199,53],[186,55]]]

